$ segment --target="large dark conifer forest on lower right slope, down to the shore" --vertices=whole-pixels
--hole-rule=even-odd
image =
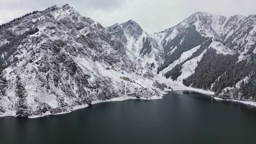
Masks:
[[[215,49],[208,49],[195,73],[186,79],[183,84],[195,88],[212,90],[219,94],[224,88],[234,87],[237,89],[234,97],[241,92],[245,99],[256,95],[256,60],[255,54],[249,60],[238,61],[238,55],[217,54]],[[247,81],[243,80],[249,76]],[[241,84],[236,87],[236,83]],[[211,85],[213,83],[213,85]],[[225,92],[228,92],[227,89]],[[241,97],[240,97],[241,99]]]

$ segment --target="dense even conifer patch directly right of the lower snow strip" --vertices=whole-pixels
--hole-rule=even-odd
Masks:
[[[217,54],[215,49],[207,49],[195,68],[195,73],[183,79],[183,84],[208,90],[211,83],[225,73],[225,71],[232,70],[237,61],[238,55]]]

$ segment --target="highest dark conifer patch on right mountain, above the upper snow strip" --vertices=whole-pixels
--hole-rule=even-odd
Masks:
[[[179,59],[183,52],[186,52],[200,45],[207,39],[207,37],[202,37],[201,34],[196,31],[195,25],[192,25],[184,33],[179,34],[173,40],[169,40],[168,43],[164,41],[162,45],[166,53],[165,62],[157,68],[157,74],[159,74],[160,71],[164,70],[164,68],[168,67],[168,65]],[[182,43],[180,43],[181,41]],[[174,48],[176,46],[177,49],[171,55],[168,55],[168,52],[170,52],[170,48]]]

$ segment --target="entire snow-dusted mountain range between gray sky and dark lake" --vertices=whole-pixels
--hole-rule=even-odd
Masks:
[[[0,116],[40,117],[190,89],[256,101],[256,15],[197,12],[148,34],[52,6],[0,26]]]

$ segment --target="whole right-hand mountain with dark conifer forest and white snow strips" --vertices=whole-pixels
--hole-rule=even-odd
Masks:
[[[153,37],[165,54],[159,74],[217,96],[256,100],[256,15],[197,12]]]

